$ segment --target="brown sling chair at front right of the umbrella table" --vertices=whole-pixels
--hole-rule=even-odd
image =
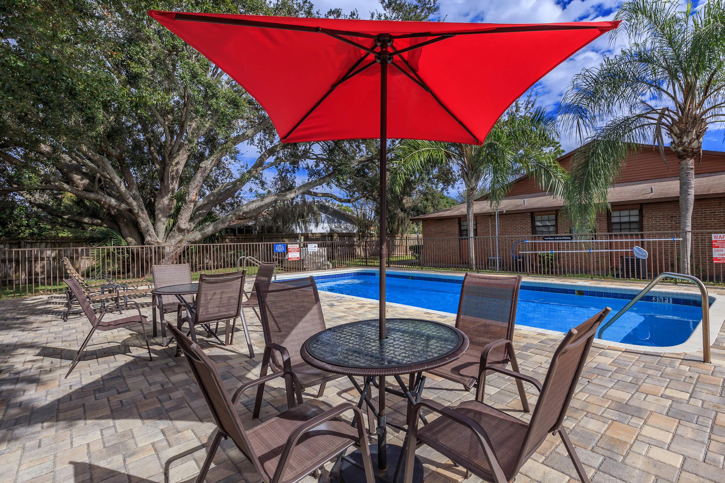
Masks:
[[[499,372],[534,385],[539,390],[531,422],[527,423],[479,400],[469,400],[448,408],[432,400],[423,400],[408,414],[405,483],[413,481],[413,457],[418,442],[460,464],[486,482],[505,483],[514,476],[542,445],[547,434],[559,433],[581,482],[589,483],[584,466],[576,456],[562,422],[587,364],[597,327],[611,309],[602,310],[586,322],[569,330],[551,358],[544,385],[533,377],[510,371],[499,365],[481,369],[479,388],[483,392],[486,371]],[[477,398],[478,399],[478,398]],[[418,412],[426,408],[439,418],[418,429]]]

